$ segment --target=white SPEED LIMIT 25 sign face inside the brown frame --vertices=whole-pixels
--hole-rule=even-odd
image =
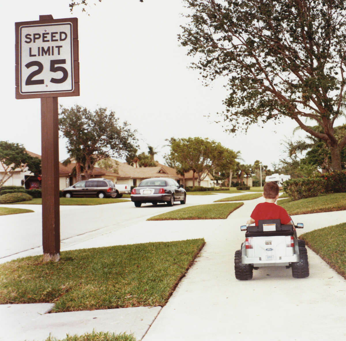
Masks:
[[[20,93],[73,91],[72,23],[19,28]]]

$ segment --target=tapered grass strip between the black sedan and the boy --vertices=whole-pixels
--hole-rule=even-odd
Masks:
[[[155,215],[147,220],[226,219],[242,205],[243,202],[189,206]]]

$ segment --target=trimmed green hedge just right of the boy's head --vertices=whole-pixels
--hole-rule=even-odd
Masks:
[[[311,198],[325,192],[326,180],[320,177],[290,179],[283,182],[283,190],[293,201]]]

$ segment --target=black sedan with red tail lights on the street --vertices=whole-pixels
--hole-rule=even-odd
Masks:
[[[182,185],[169,178],[151,178],[145,179],[131,191],[131,201],[136,207],[143,203],[167,203],[173,206],[175,201],[181,204],[186,202],[186,191]]]

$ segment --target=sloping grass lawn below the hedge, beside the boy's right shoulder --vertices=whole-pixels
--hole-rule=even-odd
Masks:
[[[277,204],[290,215],[342,211],[346,210],[346,193],[331,193],[296,201],[282,199]]]

